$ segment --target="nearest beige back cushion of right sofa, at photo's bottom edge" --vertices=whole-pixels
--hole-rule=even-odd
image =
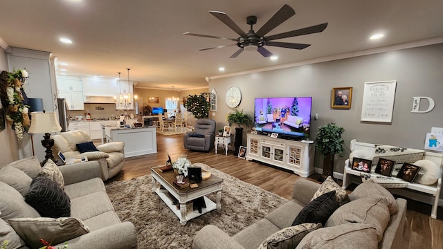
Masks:
[[[309,232],[296,249],[378,248],[377,232],[368,224],[347,223]]]

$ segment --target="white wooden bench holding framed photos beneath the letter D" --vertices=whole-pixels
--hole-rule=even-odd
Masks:
[[[375,155],[375,145],[367,142],[357,142],[355,139],[351,140],[351,151],[355,149],[363,149],[368,151],[370,155]],[[426,160],[432,160],[437,165],[442,165],[442,154],[426,151],[424,156]],[[371,176],[377,176],[371,174]],[[357,177],[356,177],[357,176]],[[379,175],[378,175],[379,176]],[[372,178],[372,177],[371,177]],[[351,169],[349,159],[345,162],[345,171],[343,172],[343,189],[348,187],[351,183],[361,183],[361,172]],[[393,178],[392,183],[407,183],[398,178]],[[388,189],[392,194],[405,196],[406,198],[415,201],[422,201],[432,205],[431,218],[437,219],[437,208],[440,201],[440,190],[442,188],[442,176],[434,185],[422,185],[419,183],[407,183],[405,188],[390,188]]]

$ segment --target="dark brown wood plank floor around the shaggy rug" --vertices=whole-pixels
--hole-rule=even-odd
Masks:
[[[283,169],[237,158],[233,156],[232,151],[228,151],[227,156],[221,149],[218,154],[215,154],[214,150],[208,153],[188,151],[183,147],[182,135],[163,136],[157,133],[157,151],[156,154],[126,158],[123,170],[109,181],[120,181],[150,174],[151,167],[164,165],[168,160],[168,153],[172,160],[180,154],[187,154],[192,163],[204,163],[286,199],[291,198],[293,183],[300,178]],[[316,178],[318,178],[316,174],[309,177],[311,181],[316,181]],[[443,221],[440,220],[443,210],[439,209],[437,220],[431,219],[430,214],[431,205],[408,200],[407,216],[411,228],[410,249],[443,248]]]

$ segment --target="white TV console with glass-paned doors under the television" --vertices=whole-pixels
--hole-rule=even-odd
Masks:
[[[246,160],[257,160],[307,177],[314,173],[314,144],[248,133]]]

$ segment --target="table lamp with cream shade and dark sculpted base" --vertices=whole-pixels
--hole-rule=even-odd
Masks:
[[[30,113],[30,117],[30,120],[32,121],[30,122],[28,133],[44,133],[42,145],[46,148],[46,156],[40,165],[43,167],[46,161],[50,158],[54,163],[56,163],[54,160],[53,150],[51,149],[54,145],[54,140],[51,139],[51,133],[61,131],[62,127],[60,127],[57,117],[55,116],[55,112],[35,111]]]

